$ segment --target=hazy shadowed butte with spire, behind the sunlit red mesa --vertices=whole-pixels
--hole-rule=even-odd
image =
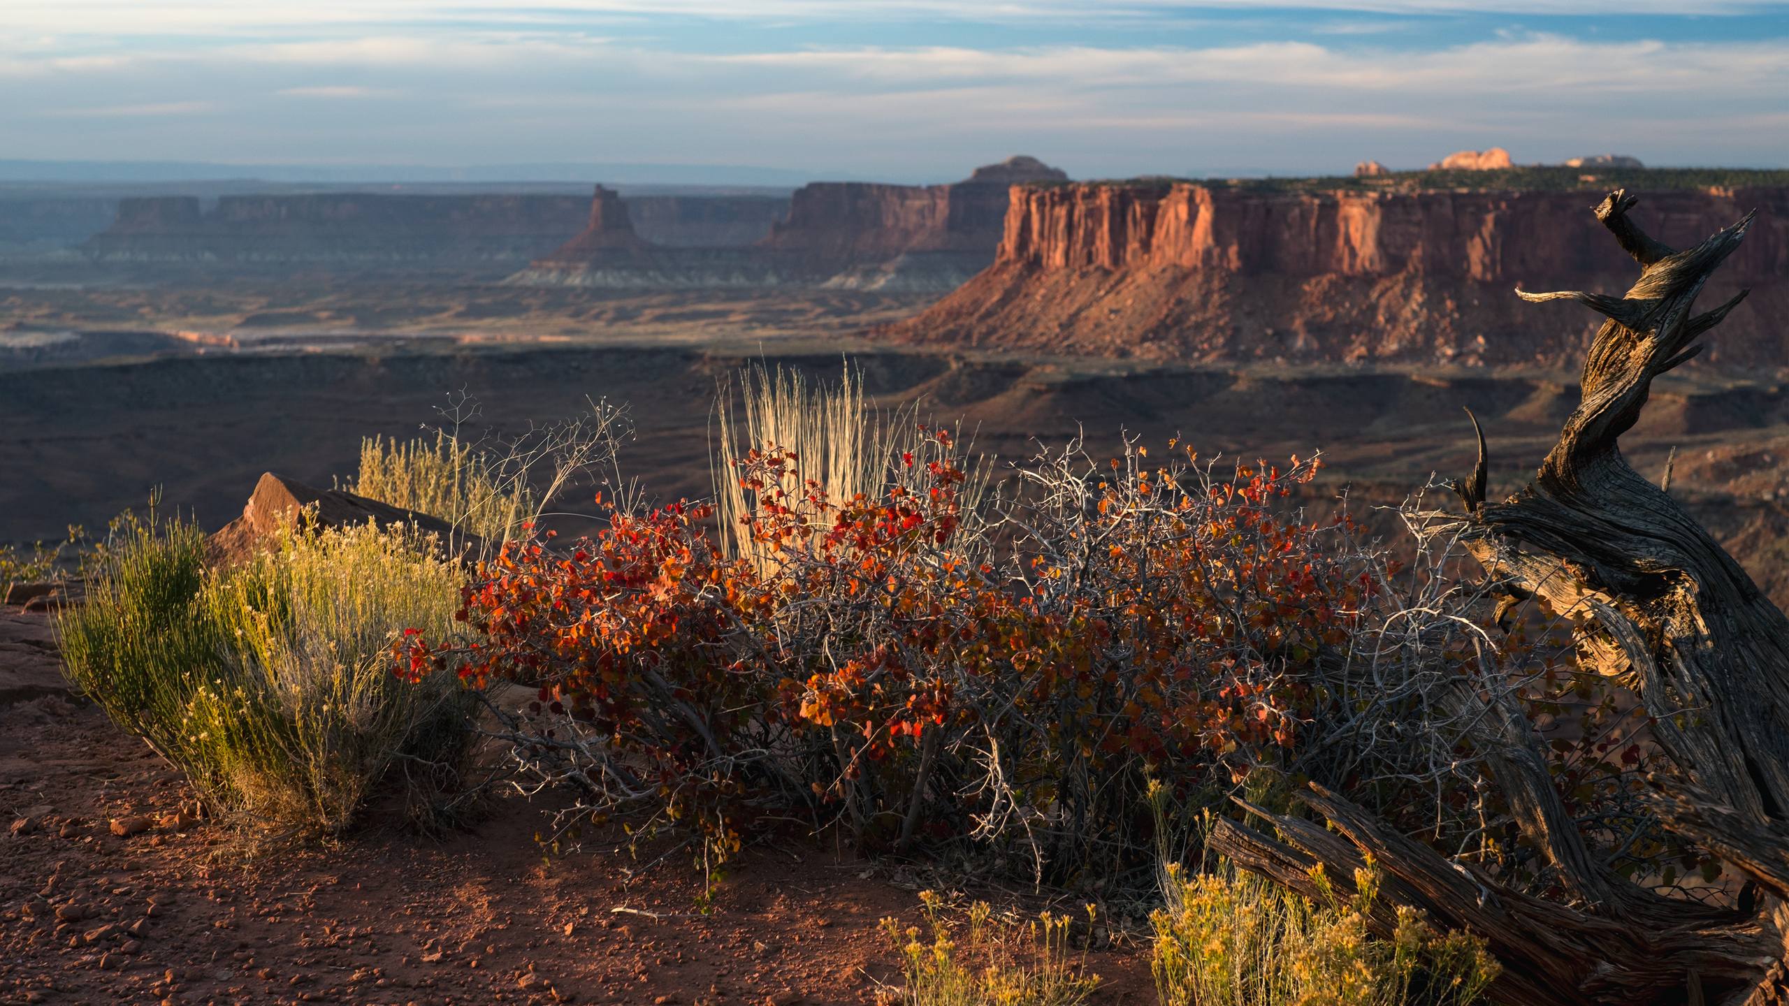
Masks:
[[[796,190],[787,218],[762,240],[701,249],[642,240],[623,217],[633,208],[598,190],[585,233],[510,281],[950,290],[993,261],[1013,184],[1064,179],[1036,158],[1013,158],[955,184],[814,183]]]

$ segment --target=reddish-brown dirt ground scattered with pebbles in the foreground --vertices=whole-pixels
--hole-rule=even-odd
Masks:
[[[918,904],[898,868],[787,838],[701,915],[682,859],[544,857],[521,798],[438,841],[261,852],[190,806],[64,691],[47,618],[0,610],[0,823],[25,822],[0,834],[0,1002],[866,1004],[894,977],[877,922]],[[1097,1002],[1154,1002],[1145,952],[1090,965]]]

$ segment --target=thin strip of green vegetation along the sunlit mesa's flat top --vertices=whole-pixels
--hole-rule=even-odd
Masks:
[[[1252,192],[1422,192],[1422,190],[1471,190],[1471,192],[1608,192],[1612,188],[1632,188],[1637,192],[1692,190],[1692,188],[1759,188],[1789,186],[1789,170],[1784,168],[1565,168],[1565,166],[1517,166],[1494,168],[1485,172],[1390,172],[1385,175],[1320,175],[1320,177],[1261,177],[1261,179],[1177,179],[1165,175],[1136,179],[1100,179],[1088,183],[1032,183],[1038,186],[1057,184],[1111,184],[1111,186],[1157,186],[1168,188],[1177,183],[1204,184],[1211,188],[1242,188]]]

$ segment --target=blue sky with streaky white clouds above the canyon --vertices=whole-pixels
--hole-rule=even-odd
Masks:
[[[1492,145],[1789,166],[1789,4],[0,0],[11,159],[950,181]]]

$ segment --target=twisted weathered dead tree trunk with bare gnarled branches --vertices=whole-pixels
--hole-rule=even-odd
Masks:
[[[1480,439],[1478,473],[1460,487],[1463,533],[1492,576],[1580,621],[1581,661],[1641,696],[1658,746],[1689,780],[1657,795],[1664,825],[1789,899],[1789,618],[1615,444],[1639,419],[1653,378],[1700,353],[1692,342],[1744,297],[1691,313],[1751,217],[1678,252],[1628,218],[1633,204],[1617,190],[1596,208],[1641,265],[1626,295],[1521,294],[1580,301],[1608,320],[1585,358],[1581,405],[1535,480],[1503,503],[1485,503]],[[1462,695],[1472,700],[1481,696]],[[1558,872],[1569,906],[1449,863],[1322,789],[1302,800],[1345,838],[1251,807],[1281,840],[1225,823],[1215,845],[1302,890],[1313,865],[1344,879],[1372,854],[1394,879],[1388,897],[1488,940],[1505,965],[1494,993],[1506,1002],[1789,1002],[1778,918],[1755,906],[1666,899],[1614,875],[1565,813],[1528,721],[1501,707],[1492,720],[1499,746],[1490,775]]]

